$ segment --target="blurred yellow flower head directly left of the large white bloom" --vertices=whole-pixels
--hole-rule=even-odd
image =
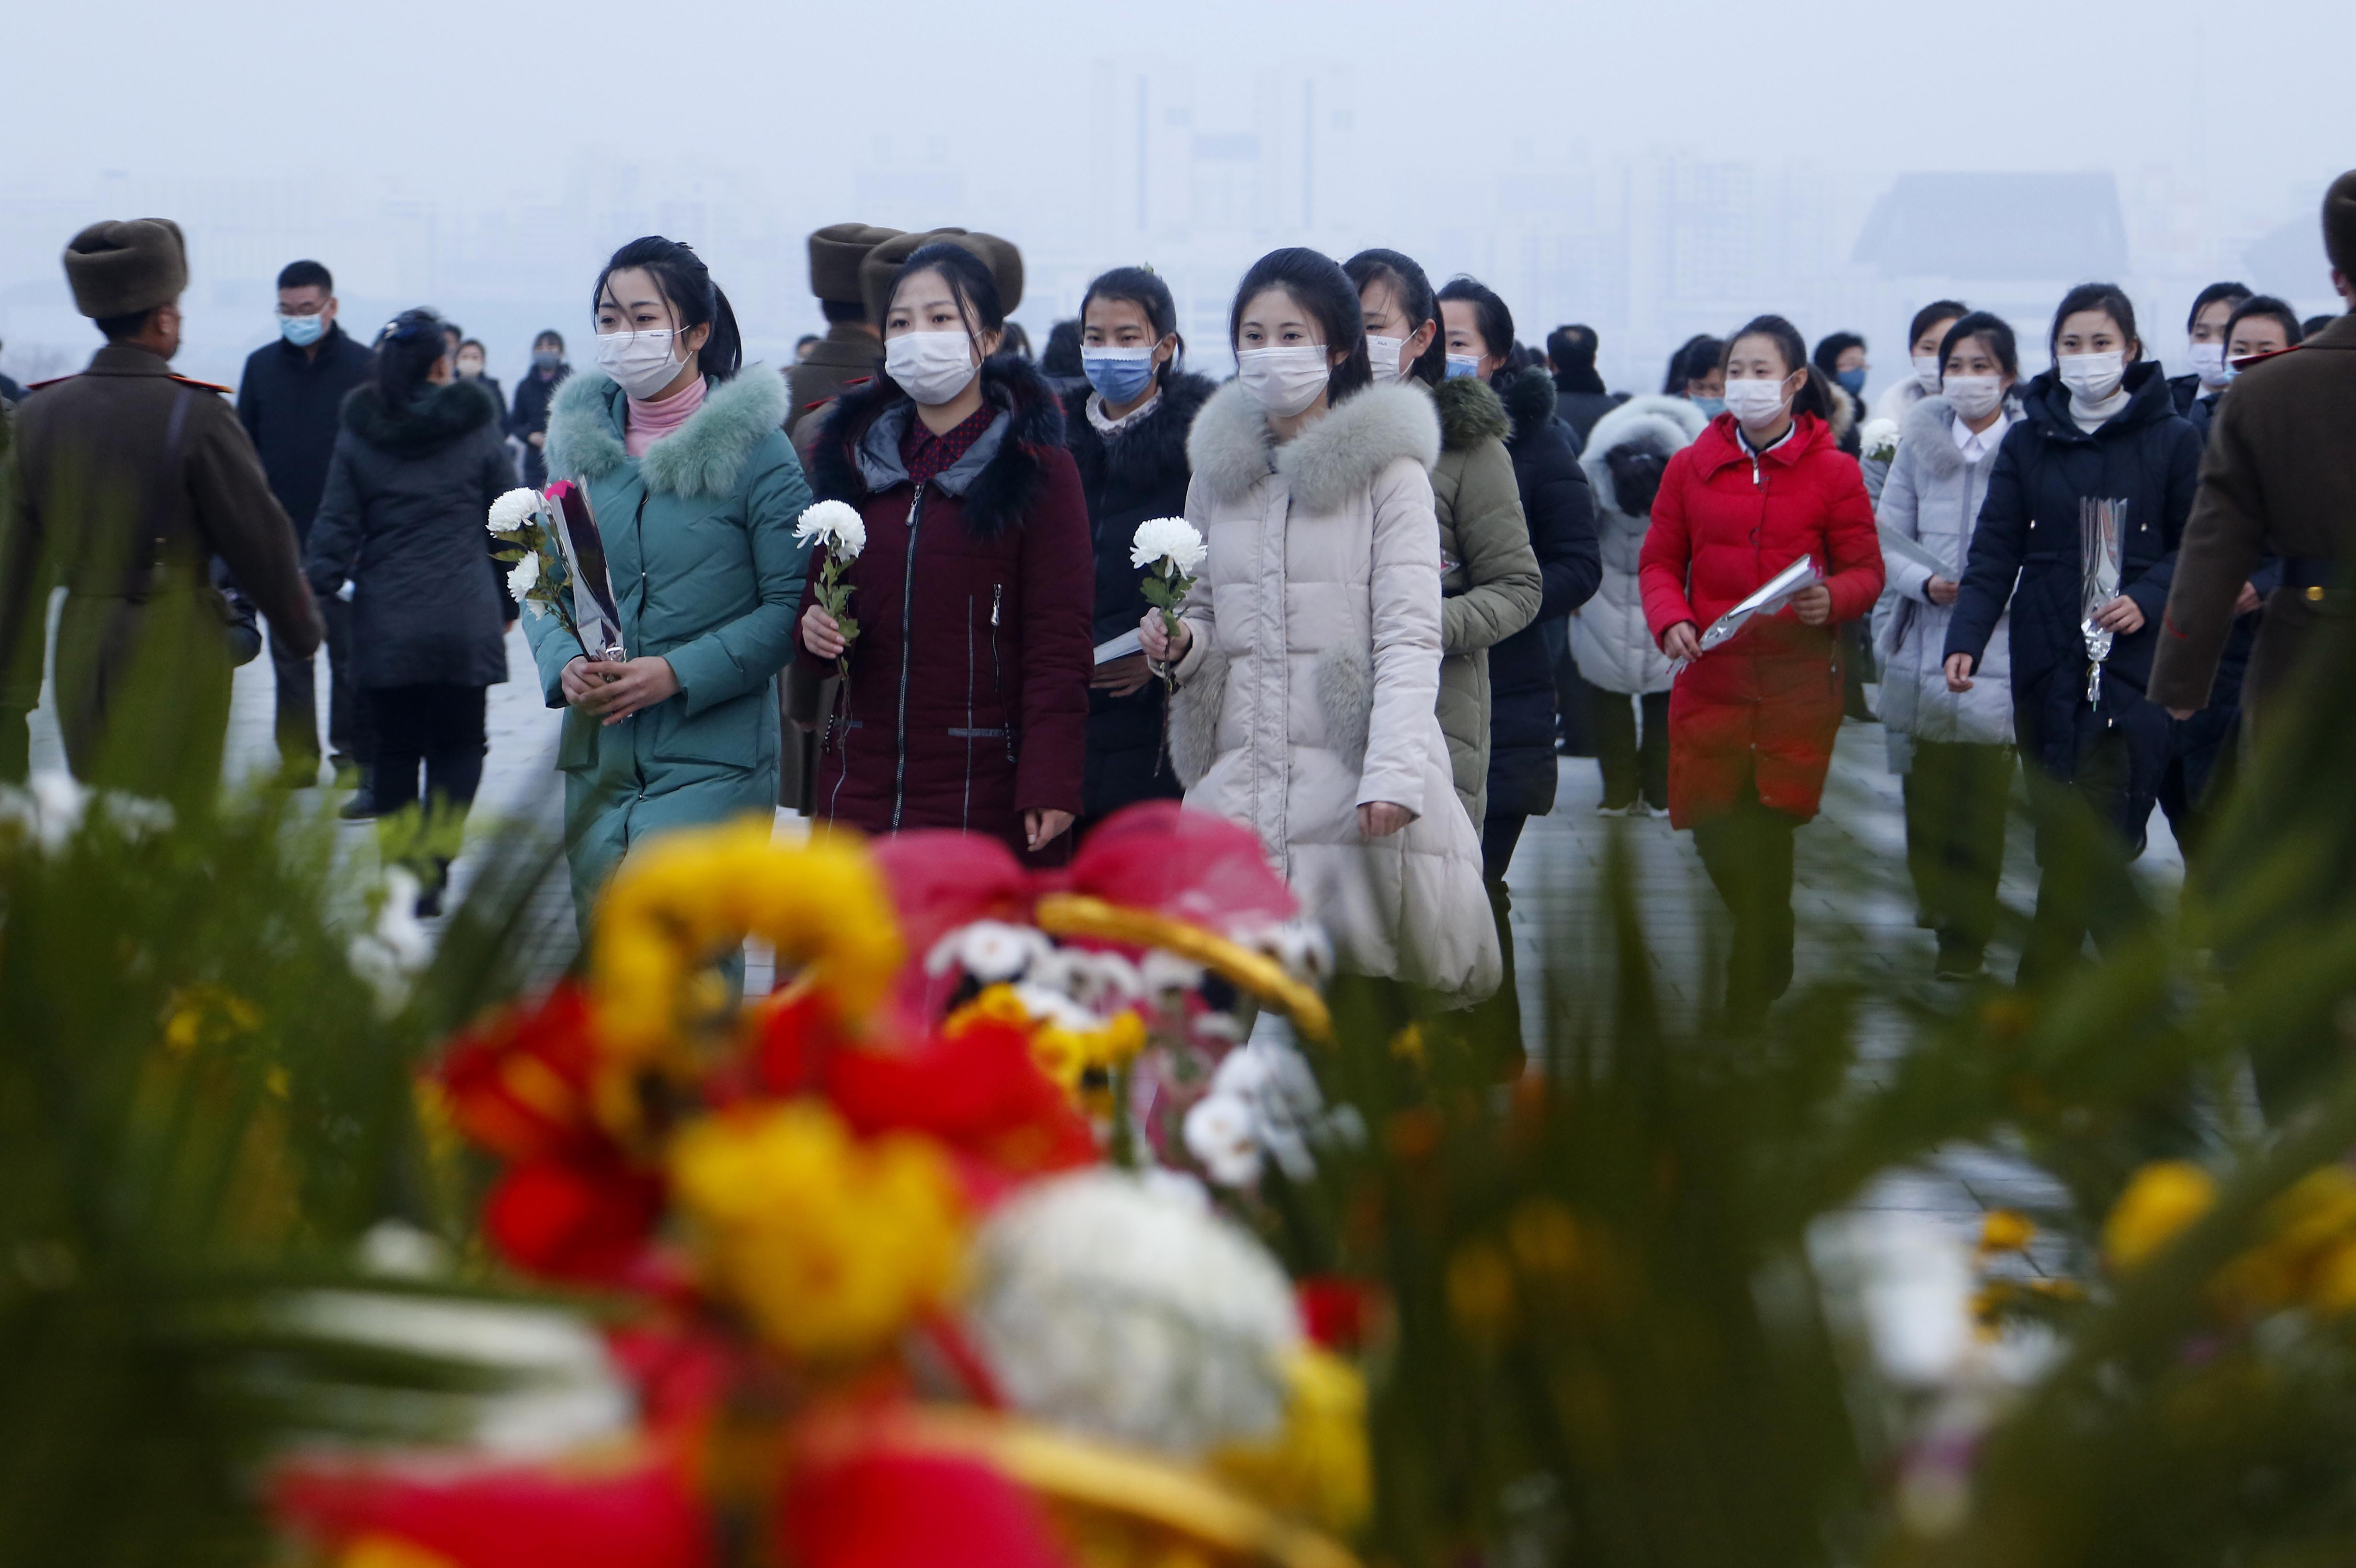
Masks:
[[[957,1288],[964,1215],[926,1140],[851,1137],[815,1099],[693,1123],[671,1180],[712,1285],[780,1349],[881,1349]]]

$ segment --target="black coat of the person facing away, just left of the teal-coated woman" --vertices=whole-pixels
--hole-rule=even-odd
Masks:
[[[344,400],[304,572],[320,598],[351,579],[360,685],[507,680],[507,567],[490,556],[485,516],[514,487],[485,388],[431,386],[401,410],[375,386]]]

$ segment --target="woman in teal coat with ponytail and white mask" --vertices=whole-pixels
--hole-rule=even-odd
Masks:
[[[589,294],[596,370],[549,405],[549,478],[580,485],[605,539],[622,662],[528,622],[540,685],[565,709],[565,850],[582,916],[648,833],[768,817],[773,678],[794,650],[810,504],[787,445],[785,379],[737,374],[735,311],[688,245],[613,252]]]

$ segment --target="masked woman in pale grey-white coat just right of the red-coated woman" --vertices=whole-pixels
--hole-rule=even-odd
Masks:
[[[1944,344],[1937,398],[1906,414],[1882,487],[1880,525],[1939,560],[1882,549],[1890,574],[1880,626],[1882,730],[1890,772],[1904,779],[1906,869],[1915,906],[1939,932],[1939,979],[1979,975],[1996,930],[1996,883],[2005,866],[2005,803],[2012,793],[2012,690],[1998,643],[1967,692],[1946,685],[1946,622],[1996,452],[2012,424],[2019,356],[2012,327],[1974,311]],[[2003,631],[2003,624],[1998,624]]]

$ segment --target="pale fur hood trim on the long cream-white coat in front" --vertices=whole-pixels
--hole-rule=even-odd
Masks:
[[[1227,381],[1202,405],[1185,450],[1216,501],[1239,501],[1282,473],[1305,511],[1341,511],[1402,457],[1440,461],[1440,412],[1423,388],[1369,386],[1279,447],[1260,405]]]

